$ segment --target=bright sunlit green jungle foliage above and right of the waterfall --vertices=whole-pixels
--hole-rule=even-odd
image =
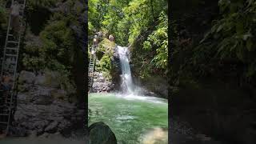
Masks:
[[[89,1],[89,34],[106,31],[119,46],[130,46],[139,76],[165,75],[167,69],[166,0]],[[148,56],[150,54],[150,57]]]

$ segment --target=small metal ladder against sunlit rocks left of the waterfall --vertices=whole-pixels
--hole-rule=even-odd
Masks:
[[[89,68],[88,68],[88,78],[89,78],[89,83],[88,83],[88,90],[89,92],[91,91],[91,88],[94,84],[94,66],[95,66],[95,60],[96,60],[96,48],[97,45],[93,45],[91,48],[91,51],[94,50],[94,54],[91,54],[90,56],[90,62],[89,62]]]

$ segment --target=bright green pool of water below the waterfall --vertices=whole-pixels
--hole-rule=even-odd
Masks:
[[[114,131],[118,144],[147,143],[143,140],[146,137],[161,137],[164,133],[159,134],[159,130],[168,127],[167,111],[167,100],[162,98],[89,94],[89,125],[105,122]]]

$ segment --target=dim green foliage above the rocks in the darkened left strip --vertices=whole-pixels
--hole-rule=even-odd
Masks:
[[[57,2],[60,1],[29,1],[26,12],[29,16],[33,13],[40,13],[42,10],[56,7]],[[50,18],[46,19],[46,22],[41,22],[43,26],[38,28],[38,35],[30,31],[34,23],[29,23],[31,26],[28,27],[26,33],[34,35],[35,40],[26,42],[22,54],[22,65],[23,69],[34,72],[42,70],[57,71],[62,76],[59,79],[62,81],[62,87],[70,90],[70,87],[74,87],[74,62],[76,62],[75,58],[79,51],[76,35],[71,27],[79,25],[78,14],[81,14],[84,9],[75,6],[76,3],[72,0],[60,4],[64,5],[69,12],[65,13],[63,10],[58,10],[50,13]],[[45,7],[45,9],[38,9],[38,7]],[[35,20],[29,16],[30,20]]]

